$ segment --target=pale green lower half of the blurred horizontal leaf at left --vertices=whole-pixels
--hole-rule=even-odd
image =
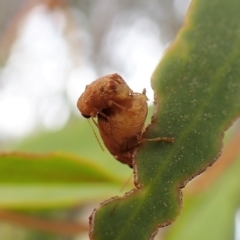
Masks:
[[[121,185],[95,184],[0,184],[2,209],[52,209],[99,202],[120,193]]]

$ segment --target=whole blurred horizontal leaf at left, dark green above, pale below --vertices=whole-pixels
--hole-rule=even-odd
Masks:
[[[125,179],[63,153],[0,154],[0,207],[53,208],[119,193]]]

